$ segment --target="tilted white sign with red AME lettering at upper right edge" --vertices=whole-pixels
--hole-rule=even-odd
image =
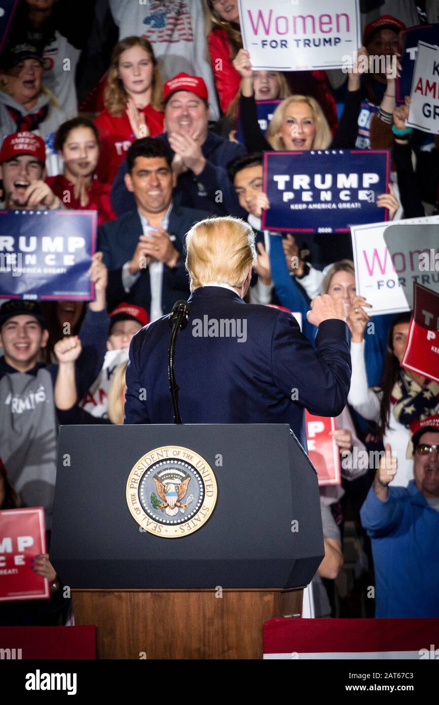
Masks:
[[[439,48],[418,42],[409,117],[406,124],[423,132],[439,133]]]

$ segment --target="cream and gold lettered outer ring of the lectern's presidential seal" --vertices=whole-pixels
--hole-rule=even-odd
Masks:
[[[137,508],[139,508],[139,512],[135,510],[135,507],[133,506],[133,501],[132,501],[132,495],[134,494],[134,488],[130,487],[130,484],[132,483],[132,478],[134,476],[135,471],[139,467],[140,463],[145,460],[145,458],[148,458],[149,455],[152,455],[153,453],[159,453],[163,450],[168,450],[168,451],[173,451],[173,450],[178,450],[180,453],[188,453],[194,457],[194,462],[192,463],[192,460],[185,460],[185,458],[179,458],[175,456],[171,456],[171,458],[165,458],[165,460],[175,460],[178,461],[180,460],[181,462],[187,462],[187,464],[193,465],[194,470],[199,474],[200,477],[202,477],[202,480],[204,482],[204,503],[202,506],[199,508],[197,514],[195,514],[193,517],[188,520],[188,522],[184,523],[181,522],[178,525],[175,525],[175,529],[180,529],[180,527],[185,527],[187,523],[191,522],[194,520],[196,517],[199,516],[199,513],[202,511],[204,507],[208,507],[208,511],[206,515],[204,516],[204,519],[201,522],[198,522],[197,525],[189,527],[185,532],[174,532],[173,534],[168,534],[167,532],[160,531],[158,532],[156,529],[152,528],[150,525],[154,524],[156,527],[161,527],[161,529],[167,529],[168,526],[166,524],[161,524],[159,522],[154,521],[152,517],[149,517],[145,512],[144,509],[142,508],[142,505],[140,504],[140,498],[139,498],[139,486],[140,486],[140,478],[144,474],[144,472],[147,472],[147,470],[142,470],[142,474],[140,474],[139,479],[137,480],[137,488],[135,489],[135,502],[134,504],[137,505]],[[204,480],[203,473],[198,470],[197,467],[195,467],[195,463],[197,460],[201,460],[204,463],[206,472],[210,474],[210,479],[211,479],[211,484],[213,487],[213,496],[207,497],[206,493],[206,481]],[[152,464],[157,462],[154,460]],[[211,465],[205,458],[203,458],[202,455],[197,453],[197,450],[192,450],[192,448],[185,448],[184,446],[177,446],[177,445],[169,445],[169,446],[159,446],[159,448],[153,448],[152,450],[149,450],[148,453],[144,453],[139,460],[135,463],[135,465],[132,466],[130,470],[130,474],[128,475],[127,479],[127,484],[126,484],[126,491],[125,491],[125,498],[127,501],[128,505],[128,510],[130,511],[131,516],[137,524],[142,527],[144,532],[148,532],[149,534],[152,534],[153,536],[158,537],[159,539],[183,539],[184,537],[190,536],[190,534],[193,534],[194,532],[198,531],[198,529],[201,529],[204,527],[206,522],[209,521],[212,513],[214,512],[214,509],[216,507],[216,501],[218,498],[218,484],[216,482],[216,477],[214,470],[212,470]],[[142,516],[143,515],[143,516]],[[140,518],[142,516],[142,519]],[[171,528],[172,525],[169,525],[169,528]]]

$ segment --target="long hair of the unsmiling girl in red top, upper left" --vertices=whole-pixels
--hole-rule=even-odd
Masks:
[[[161,111],[163,108],[163,89],[161,85],[159,64],[154,56],[154,49],[144,37],[125,37],[116,44],[111,54],[109,75],[104,90],[104,106],[113,118],[121,118],[125,113],[128,101],[128,93],[123,87],[123,82],[119,78],[119,59],[127,49],[132,47],[142,47],[149,54],[154,66],[151,84],[151,105],[155,110]]]

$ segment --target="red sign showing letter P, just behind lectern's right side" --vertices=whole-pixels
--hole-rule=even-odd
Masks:
[[[335,419],[313,416],[305,411],[308,457],[316,468],[319,485],[340,484],[340,452],[330,431],[335,431]]]

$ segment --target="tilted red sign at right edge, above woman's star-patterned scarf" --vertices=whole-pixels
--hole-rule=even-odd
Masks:
[[[439,382],[439,331],[423,328],[412,318],[401,364]]]

